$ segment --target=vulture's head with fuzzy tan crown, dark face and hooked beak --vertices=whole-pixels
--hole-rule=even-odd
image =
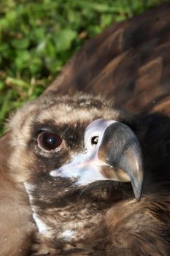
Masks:
[[[75,244],[97,234],[117,201],[142,195],[139,140],[100,97],[42,97],[9,122],[10,175],[23,183],[39,234]]]

